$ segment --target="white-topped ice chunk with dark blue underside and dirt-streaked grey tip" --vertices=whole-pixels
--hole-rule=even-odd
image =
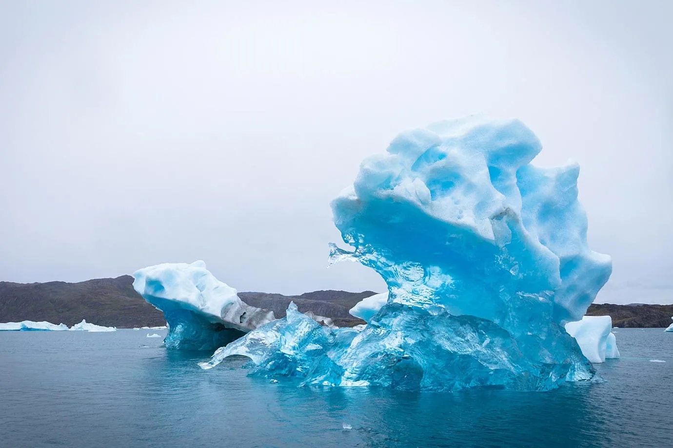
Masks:
[[[138,294],[164,312],[170,349],[214,350],[274,319],[273,312],[242,302],[203,261],[149,266],[133,277]]]

